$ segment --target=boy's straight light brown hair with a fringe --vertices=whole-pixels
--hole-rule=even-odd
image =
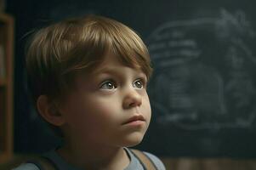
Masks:
[[[42,94],[50,99],[63,97],[72,88],[77,71],[91,71],[110,52],[150,79],[151,59],[145,43],[117,20],[88,15],[37,31],[26,51],[28,88],[34,105]]]

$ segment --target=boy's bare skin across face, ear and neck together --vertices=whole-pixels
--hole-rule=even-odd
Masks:
[[[90,74],[76,78],[76,90],[58,108],[40,96],[40,114],[65,133],[65,145],[57,150],[65,161],[84,169],[123,169],[129,158],[123,146],[139,144],[151,122],[151,105],[142,71],[107,56]],[[142,115],[138,126],[123,125]]]

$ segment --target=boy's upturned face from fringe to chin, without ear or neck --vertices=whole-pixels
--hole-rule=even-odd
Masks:
[[[77,90],[62,106],[69,135],[94,144],[139,144],[151,121],[151,105],[142,71],[122,65],[114,56],[89,75],[77,76]],[[145,121],[123,124],[141,115]],[[75,136],[74,136],[75,135]]]

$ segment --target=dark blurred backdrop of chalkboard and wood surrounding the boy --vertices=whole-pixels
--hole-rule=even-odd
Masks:
[[[3,163],[60,144],[28,99],[26,34],[100,14],[132,27],[150,50],[152,119],[136,148],[161,157],[168,169],[256,169],[255,1],[0,2],[0,75],[5,67],[8,80],[0,79]],[[1,60],[1,51],[9,59]]]

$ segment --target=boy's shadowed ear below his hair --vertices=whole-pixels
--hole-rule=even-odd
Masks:
[[[65,123],[65,116],[58,111],[58,106],[54,102],[50,102],[46,95],[38,97],[37,110],[44,120],[55,126],[61,126]]]

